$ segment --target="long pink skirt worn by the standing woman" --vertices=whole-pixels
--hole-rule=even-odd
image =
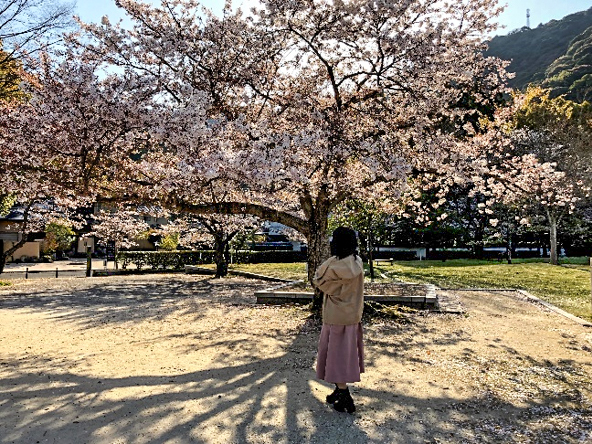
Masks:
[[[330,383],[359,382],[364,373],[362,324],[323,324],[317,355],[317,378]]]

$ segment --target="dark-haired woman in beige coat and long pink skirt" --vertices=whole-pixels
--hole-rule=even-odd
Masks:
[[[347,383],[359,382],[364,372],[364,268],[357,248],[355,231],[337,228],[331,241],[333,256],[321,264],[313,279],[313,285],[324,293],[317,377],[335,384],[327,402],[348,413],[356,407]]]

